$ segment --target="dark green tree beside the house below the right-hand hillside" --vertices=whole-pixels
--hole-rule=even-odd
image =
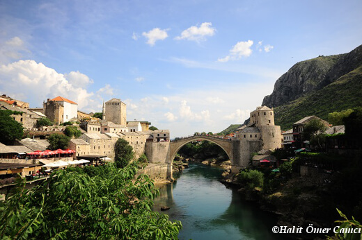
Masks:
[[[324,131],[326,128],[320,119],[311,119],[304,126],[302,137],[304,140],[308,140],[310,144],[322,147],[325,142]]]

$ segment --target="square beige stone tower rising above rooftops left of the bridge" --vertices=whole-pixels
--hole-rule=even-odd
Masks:
[[[126,104],[118,98],[112,98],[105,103],[105,120],[127,126]]]

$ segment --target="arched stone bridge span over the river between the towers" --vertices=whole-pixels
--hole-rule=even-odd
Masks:
[[[175,141],[172,141],[170,143],[170,163],[172,164],[173,160],[175,159],[176,154],[178,153],[178,151],[180,151],[180,149],[182,148],[182,146],[188,144],[189,142],[194,142],[194,141],[198,141],[198,140],[205,140],[205,141],[209,141],[212,142],[214,144],[217,144],[217,146],[221,147],[221,149],[223,149],[223,151],[225,151],[226,155],[228,155],[230,161],[233,164],[233,147],[231,144],[231,141],[227,140],[227,139],[221,139],[218,137],[210,137],[210,136],[203,136],[203,135],[197,135],[197,136],[192,136],[192,137],[187,137],[184,139],[178,139]]]

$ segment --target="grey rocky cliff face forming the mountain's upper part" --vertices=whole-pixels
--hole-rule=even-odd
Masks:
[[[265,96],[262,105],[272,108],[289,103],[322,89],[360,66],[362,45],[349,53],[298,62],[276,80],[272,94]]]

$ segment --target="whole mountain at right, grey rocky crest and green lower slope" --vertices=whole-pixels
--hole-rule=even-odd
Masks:
[[[274,108],[275,123],[283,130],[299,119],[362,105],[362,45],[340,55],[298,62],[276,80],[262,105]]]

